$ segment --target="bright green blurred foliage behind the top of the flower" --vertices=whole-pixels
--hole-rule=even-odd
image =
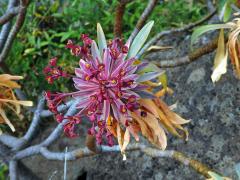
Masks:
[[[60,81],[49,86],[42,69],[51,57],[57,56],[60,64],[74,71],[78,58],[64,48],[67,39],[79,40],[82,33],[96,39],[96,24],[99,22],[106,39],[113,37],[114,13],[117,0],[45,0],[32,2],[28,8],[24,27],[14,42],[7,64],[13,74],[25,76],[23,89],[33,99],[43,90],[58,88],[67,91],[71,86]],[[169,0],[159,3],[149,20],[155,24],[150,36],[173,27],[194,22],[206,12],[201,1]],[[123,22],[123,37],[126,39],[135,27],[148,1],[135,0],[126,7]],[[0,8],[1,9],[1,8]]]

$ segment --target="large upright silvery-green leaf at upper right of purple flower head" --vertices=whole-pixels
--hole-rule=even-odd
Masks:
[[[154,21],[148,22],[136,35],[128,52],[128,58],[135,57],[141,49],[153,27]]]

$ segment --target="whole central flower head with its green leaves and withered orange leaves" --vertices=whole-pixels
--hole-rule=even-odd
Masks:
[[[53,83],[60,77],[72,77],[77,90],[71,93],[45,93],[48,107],[56,120],[59,123],[66,120],[64,132],[67,136],[76,137],[76,125],[87,117],[92,123],[88,133],[96,137],[97,143],[106,141],[112,146],[115,137],[123,154],[130,142],[130,135],[139,141],[139,132],[161,149],[167,146],[166,130],[187,138],[187,130],[181,125],[188,121],[172,112],[159,99],[169,90],[162,81],[164,71],[135,58],[152,26],[153,21],[147,23],[132,43],[129,40],[124,44],[119,38],[107,43],[100,24],[97,25],[98,45],[85,34],[81,36],[83,46],[69,40],[66,48],[73,56],[80,57],[75,75],[59,67],[57,58],[50,60],[44,69],[47,81]],[[152,81],[156,78],[157,81]],[[153,93],[163,86],[162,90]],[[68,97],[78,100],[76,107],[79,111],[74,116],[64,117],[57,107]]]

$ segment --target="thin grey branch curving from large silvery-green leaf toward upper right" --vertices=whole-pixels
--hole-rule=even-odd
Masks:
[[[214,14],[216,13],[216,9],[211,12],[210,14],[208,14],[207,16],[205,16],[203,19],[191,23],[189,25],[186,25],[184,27],[181,28],[177,28],[177,29],[171,29],[171,30],[167,30],[167,31],[162,31],[160,33],[158,33],[157,35],[155,35],[151,40],[149,40],[144,47],[139,51],[139,53],[137,54],[136,58],[140,58],[149,47],[151,47],[152,45],[156,44],[163,36],[169,35],[169,34],[177,34],[177,33],[181,33],[187,30],[190,30],[196,26],[198,26],[199,24],[202,24],[203,22],[209,20]]]

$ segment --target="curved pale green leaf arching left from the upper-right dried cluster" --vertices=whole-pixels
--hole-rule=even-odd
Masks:
[[[210,25],[201,26],[194,30],[191,38],[191,44],[193,44],[199,36],[201,36],[207,31],[212,31],[216,29],[225,29],[225,28],[226,29],[232,28],[232,26],[229,24],[210,24]]]

